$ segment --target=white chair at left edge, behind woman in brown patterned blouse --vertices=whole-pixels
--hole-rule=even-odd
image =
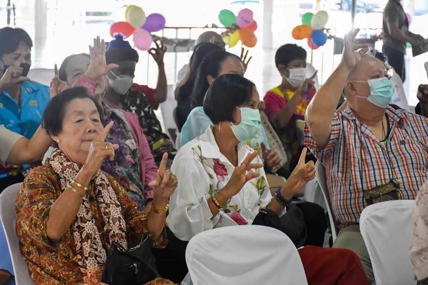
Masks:
[[[33,284],[33,281],[28,273],[28,266],[19,251],[19,240],[16,236],[15,200],[21,184],[11,185],[0,194],[0,219],[11,253],[16,285],[27,285]]]

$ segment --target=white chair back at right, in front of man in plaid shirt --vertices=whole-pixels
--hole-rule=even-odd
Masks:
[[[360,231],[377,285],[416,284],[409,257],[413,205],[414,200],[387,201],[361,213]]]

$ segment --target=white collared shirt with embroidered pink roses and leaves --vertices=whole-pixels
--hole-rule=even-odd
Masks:
[[[248,153],[254,152],[242,142],[238,144],[237,150],[238,165]],[[262,161],[256,156],[251,163]],[[167,223],[179,239],[190,240],[196,234],[212,228],[242,224],[236,222],[240,217],[251,225],[259,209],[269,204],[272,199],[269,185],[263,168],[258,168],[261,175],[248,181],[228,201],[226,209],[212,218],[207,199],[227,184],[234,169],[235,166],[220,152],[212,134],[212,126],[178,151],[171,166],[171,171],[178,178],[178,186],[170,198]]]

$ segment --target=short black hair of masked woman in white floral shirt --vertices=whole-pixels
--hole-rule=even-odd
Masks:
[[[239,74],[223,74],[206,91],[203,111],[213,124],[235,123],[236,107],[251,103],[256,85]]]

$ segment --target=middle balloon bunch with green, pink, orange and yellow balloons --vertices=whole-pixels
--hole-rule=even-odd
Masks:
[[[219,20],[227,28],[227,31],[222,35],[229,47],[236,46],[239,40],[246,47],[256,46],[257,37],[254,31],[257,30],[257,23],[253,19],[253,11],[242,9],[238,16],[235,16],[232,11],[225,9],[220,11]]]

